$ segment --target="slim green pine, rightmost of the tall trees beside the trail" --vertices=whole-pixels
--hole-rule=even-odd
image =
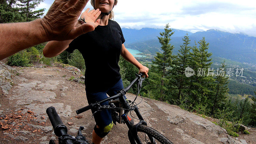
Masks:
[[[223,63],[221,63],[221,68],[225,68],[225,61]],[[223,107],[224,104],[226,103],[226,98],[228,95],[228,77],[225,76],[225,71],[223,71],[223,74],[219,74],[216,75],[215,79],[215,93],[212,95],[212,98],[210,99],[212,103],[212,108],[211,108],[211,112],[210,115],[214,115],[219,113]]]

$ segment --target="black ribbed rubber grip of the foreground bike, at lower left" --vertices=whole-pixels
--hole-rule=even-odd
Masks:
[[[57,125],[63,124],[54,107],[47,108],[46,113],[52,123],[53,129],[55,129]]]

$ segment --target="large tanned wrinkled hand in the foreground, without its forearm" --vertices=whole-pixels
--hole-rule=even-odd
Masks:
[[[76,22],[89,0],[55,0],[42,19],[42,34],[47,41],[75,39],[77,36],[93,31],[91,23],[75,27]]]

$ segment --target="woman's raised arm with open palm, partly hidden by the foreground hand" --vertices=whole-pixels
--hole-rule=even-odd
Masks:
[[[92,24],[96,28],[100,24],[100,20],[96,21],[100,15],[100,10],[97,9],[90,12],[89,10],[89,8],[86,9],[86,11],[81,14],[80,18],[85,19],[86,23],[84,25]],[[79,27],[80,25],[82,25],[82,23],[77,21],[75,27]],[[48,58],[55,57],[65,51],[72,41],[73,39],[66,41],[50,41],[44,46],[43,54]]]

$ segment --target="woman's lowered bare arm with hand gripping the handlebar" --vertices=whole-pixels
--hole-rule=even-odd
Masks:
[[[135,67],[139,68],[139,73],[145,74],[146,78],[148,77],[148,68],[143,66],[138,60],[134,58],[134,56],[124,47],[122,44],[121,56],[132,63]]]

